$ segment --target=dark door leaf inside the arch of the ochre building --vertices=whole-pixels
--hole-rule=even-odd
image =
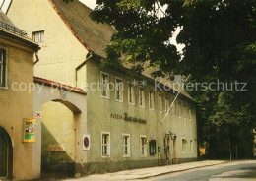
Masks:
[[[0,130],[0,177],[7,176],[8,145],[4,134]]]

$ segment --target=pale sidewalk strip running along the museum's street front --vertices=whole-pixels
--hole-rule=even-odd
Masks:
[[[101,181],[101,180],[136,180],[145,179],[154,176],[159,176],[167,173],[173,173],[178,171],[185,171],[193,168],[199,168],[204,166],[212,166],[217,164],[222,164],[226,161],[220,160],[206,160],[206,161],[196,161],[182,164],[172,164],[167,166],[141,168],[134,170],[119,171],[114,173],[105,174],[95,174],[87,177],[81,177],[77,179],[68,179],[66,181]]]

